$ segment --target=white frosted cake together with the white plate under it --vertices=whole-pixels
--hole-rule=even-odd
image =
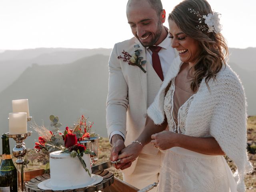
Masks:
[[[50,179],[38,184],[44,190],[76,189],[97,184],[102,181],[98,175],[90,175],[83,168],[78,157],[70,157],[68,153],[56,151],[50,153]],[[84,154],[83,160],[91,174],[90,155]]]

